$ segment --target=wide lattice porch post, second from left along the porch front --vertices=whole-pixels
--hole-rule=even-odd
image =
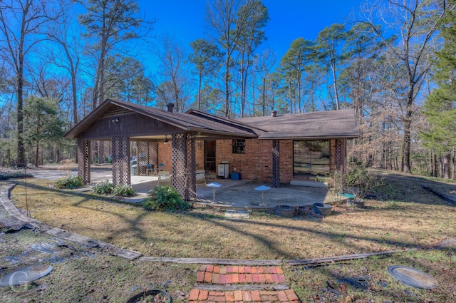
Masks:
[[[130,138],[125,135],[111,138],[113,146],[113,184],[131,184]]]

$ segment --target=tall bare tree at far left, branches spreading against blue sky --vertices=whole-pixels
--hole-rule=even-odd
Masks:
[[[16,141],[17,164],[25,165],[24,143],[24,83],[28,55],[43,41],[46,26],[61,14],[51,1],[13,0],[0,2],[0,53],[16,76]]]

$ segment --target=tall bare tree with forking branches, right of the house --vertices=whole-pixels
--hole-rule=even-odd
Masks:
[[[415,99],[431,67],[430,58],[435,51],[437,24],[446,11],[455,9],[455,4],[419,0],[388,0],[385,6],[383,3],[384,1],[375,1],[363,6],[363,18],[359,22],[366,24],[383,41],[390,56],[398,64],[395,70],[403,72],[405,87],[403,92],[397,94],[399,102],[399,99],[405,101],[400,166],[404,173],[411,173],[410,144]],[[380,32],[382,28],[383,32]],[[398,33],[397,39],[388,36],[389,29]]]

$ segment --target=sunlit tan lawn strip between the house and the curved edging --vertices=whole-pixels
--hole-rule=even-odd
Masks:
[[[24,209],[24,184],[19,180],[16,183],[12,197]],[[28,207],[33,217],[156,257],[328,257],[428,247],[456,235],[453,207],[419,186],[414,190],[405,187],[405,191],[417,191],[404,195],[408,201],[390,198],[392,194],[399,195],[390,188],[404,188],[393,181],[383,188],[383,201],[369,200],[366,209],[339,205],[329,217],[308,215],[296,220],[270,214],[232,220],[224,218],[222,211],[207,209],[148,212],[136,206],[55,190],[49,187],[50,183],[28,180]]]

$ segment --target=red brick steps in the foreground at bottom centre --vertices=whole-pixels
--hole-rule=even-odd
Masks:
[[[285,282],[280,267],[217,266],[202,265],[197,273],[198,288],[192,289],[190,303],[212,302],[280,302],[299,303],[293,289],[259,290],[258,286]],[[242,290],[213,290],[214,285],[241,286]],[[252,289],[249,289],[252,286]],[[257,289],[255,289],[257,288]]]

